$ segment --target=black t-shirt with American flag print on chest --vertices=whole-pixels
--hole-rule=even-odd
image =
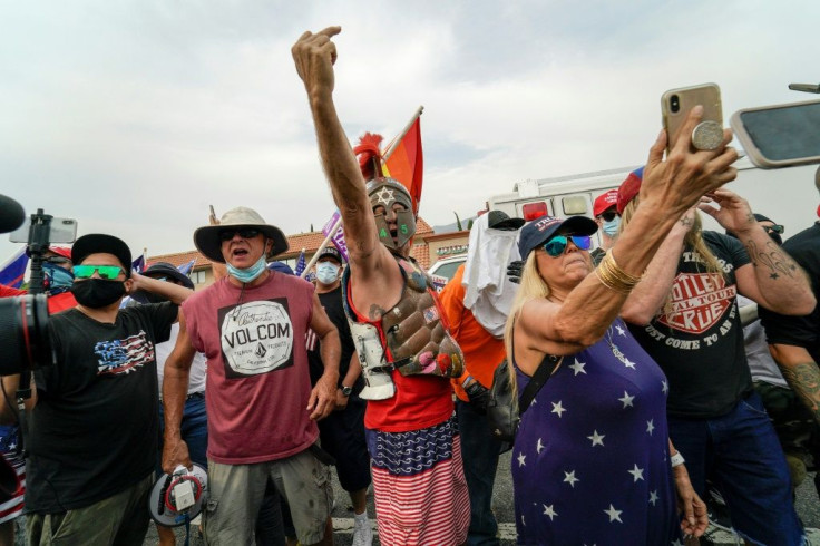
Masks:
[[[167,341],[173,303],[121,309],[114,324],[77,309],[52,315],[57,363],[35,371],[26,511],[84,508],[148,476],[159,420],[154,347]]]

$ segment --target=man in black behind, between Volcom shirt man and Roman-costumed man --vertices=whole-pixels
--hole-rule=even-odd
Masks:
[[[342,488],[353,504],[353,544],[370,546],[372,529],[368,520],[367,490],[370,485],[370,456],[364,440],[364,409],[367,402],[359,398],[364,386],[361,364],[350,334],[348,318],[342,306],[341,253],[325,247],[315,265],[316,294],[333,325],[339,329],[342,358],[339,363],[339,389],[335,410],[319,421],[322,448],[336,459],[336,474]],[[319,340],[313,331],[308,332],[308,362],[311,382],[322,376],[324,364],[319,352]]]

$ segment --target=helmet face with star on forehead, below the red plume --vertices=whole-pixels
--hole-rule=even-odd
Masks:
[[[416,233],[410,194],[393,178],[373,178],[368,183],[370,206],[375,216],[375,227],[388,248],[401,248]]]

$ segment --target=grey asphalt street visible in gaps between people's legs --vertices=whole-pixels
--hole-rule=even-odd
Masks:
[[[496,486],[492,497],[492,509],[496,513],[496,518],[499,521],[499,534],[501,538],[501,545],[509,546],[515,544],[515,511],[512,503],[512,480],[510,477],[510,452],[507,452],[500,457],[498,462],[498,472],[496,476]],[[333,509],[333,538],[336,545],[348,546],[352,543],[352,529],[353,529],[353,511],[350,507],[350,498],[348,494],[339,485],[339,480],[333,479],[333,490],[335,498],[335,507]],[[814,489],[813,474],[810,474],[803,484],[798,487],[797,490],[797,509],[800,518],[807,527],[820,527],[820,500],[818,500],[818,494]],[[368,499],[368,514],[370,515],[371,523],[375,529],[375,511],[373,509],[373,499]],[[579,523],[580,524],[580,523]],[[177,536],[180,538],[177,544],[183,544],[184,533],[178,529]],[[712,535],[713,545],[730,545],[738,544],[735,539],[728,533],[714,532]],[[703,542],[705,543],[705,540]],[[157,544],[157,535],[154,526],[148,532],[148,536],[145,542],[146,545]],[[202,544],[194,537],[192,544]],[[378,539],[378,532],[374,545],[380,545]]]

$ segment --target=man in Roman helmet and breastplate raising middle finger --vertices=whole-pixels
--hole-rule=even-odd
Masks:
[[[379,535],[391,545],[461,544],[469,499],[449,379],[461,376],[463,354],[430,277],[409,257],[418,203],[382,175],[379,138],[357,148],[360,169],[339,121],[331,38],[340,31],[305,32],[292,52],[350,253],[343,298],[367,384]]]

